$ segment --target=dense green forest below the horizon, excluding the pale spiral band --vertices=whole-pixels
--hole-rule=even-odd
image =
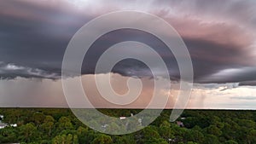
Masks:
[[[130,117],[141,110],[100,109],[109,116]],[[82,124],[65,108],[1,108],[0,143],[30,144],[253,144],[256,111],[185,110],[169,122],[172,110],[143,130],[128,135],[107,135]],[[0,123],[0,124],[1,124]],[[11,126],[11,124],[17,124]]]

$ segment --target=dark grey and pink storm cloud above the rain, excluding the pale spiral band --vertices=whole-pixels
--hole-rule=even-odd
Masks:
[[[0,77],[60,78],[61,60],[73,34],[97,14],[123,9],[129,3],[112,1],[108,5],[109,9],[92,4],[97,12],[91,12],[79,11],[64,1],[1,1]],[[132,6],[138,7],[135,5]],[[234,83],[255,79],[255,7],[253,1],[173,0],[148,2],[147,8],[137,9],[160,15],[181,34],[192,58],[195,82]],[[99,38],[85,55],[82,73],[94,73],[99,56],[114,43],[127,40],[154,48],[166,61],[171,78],[179,78],[177,62],[166,45],[146,32],[134,30],[115,31]],[[7,66],[20,69],[7,70]],[[234,69],[237,71],[230,71]],[[137,60],[122,60],[113,72],[125,76],[152,75]]]

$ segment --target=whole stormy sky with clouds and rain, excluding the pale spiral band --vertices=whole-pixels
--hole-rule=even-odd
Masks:
[[[61,62],[67,44],[81,26],[117,10],[155,14],[183,38],[194,68],[194,89],[187,108],[256,109],[256,2],[253,0],[113,0],[108,3],[2,0],[0,107],[67,107],[61,87]],[[165,60],[172,80],[166,108],[172,108],[179,93],[175,57],[159,39],[129,29],[110,32],[91,46],[82,67],[83,87],[90,101],[96,107],[120,107],[101,98],[94,76],[106,78],[107,74],[94,70],[104,50],[127,40],[152,46]],[[141,78],[144,84],[141,95],[122,107],[147,106],[153,90],[152,74],[147,66],[137,60],[123,60],[114,66],[111,75],[113,89],[120,94],[127,92],[127,78]],[[170,89],[159,90],[165,95]]]

